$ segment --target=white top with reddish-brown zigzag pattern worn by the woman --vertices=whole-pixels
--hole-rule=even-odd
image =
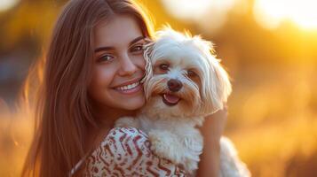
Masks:
[[[187,176],[150,150],[147,135],[134,127],[115,127],[86,159],[84,176]]]

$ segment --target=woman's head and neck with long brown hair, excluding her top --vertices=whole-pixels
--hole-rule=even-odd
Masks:
[[[145,72],[143,45],[152,34],[147,23],[129,0],[65,5],[44,58],[38,124],[24,176],[67,176],[104,140],[115,119],[145,104],[139,81]]]

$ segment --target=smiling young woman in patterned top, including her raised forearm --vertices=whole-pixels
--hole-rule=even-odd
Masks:
[[[147,135],[133,128],[113,128],[116,119],[133,116],[145,104],[139,83],[146,65],[142,46],[151,35],[146,14],[129,0],[71,0],[66,4],[44,62],[36,132],[23,176],[106,175],[115,170],[122,175],[166,175],[170,170],[170,175],[186,174],[155,157]],[[218,174],[218,141],[226,111],[213,117],[202,127],[208,150],[202,154],[198,176]],[[123,142],[115,139],[119,134],[127,139],[123,151],[112,149]],[[137,137],[138,142],[129,141]],[[137,156],[129,150],[135,144]],[[119,163],[122,156],[134,164]],[[136,157],[141,158],[138,163]],[[99,172],[100,163],[105,165],[104,172]],[[154,166],[154,172],[149,165],[158,167]]]

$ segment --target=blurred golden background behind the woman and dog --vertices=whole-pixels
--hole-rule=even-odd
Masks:
[[[317,176],[316,0],[139,0],[215,43],[231,75],[225,135],[253,176]],[[0,176],[19,176],[33,121],[16,106],[64,0],[0,0]]]

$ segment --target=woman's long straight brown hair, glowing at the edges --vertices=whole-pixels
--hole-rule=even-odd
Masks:
[[[114,15],[130,15],[144,36],[152,35],[146,13],[129,0],[71,0],[60,13],[46,58],[39,62],[44,73],[36,96],[36,131],[22,176],[67,176],[85,154],[87,125],[96,126],[87,95],[93,29]]]

